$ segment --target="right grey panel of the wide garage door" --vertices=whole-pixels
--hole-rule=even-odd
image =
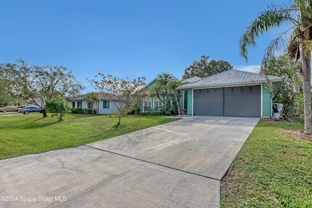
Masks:
[[[261,87],[224,88],[224,116],[261,116]]]

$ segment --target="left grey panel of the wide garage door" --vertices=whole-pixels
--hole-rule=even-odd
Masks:
[[[223,115],[223,89],[194,90],[194,115]]]

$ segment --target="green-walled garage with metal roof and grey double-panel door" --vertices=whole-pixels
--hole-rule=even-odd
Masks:
[[[271,117],[273,101],[265,84],[268,79],[275,89],[281,88],[281,77],[232,69],[189,80],[178,89],[185,91],[184,105],[190,115]]]

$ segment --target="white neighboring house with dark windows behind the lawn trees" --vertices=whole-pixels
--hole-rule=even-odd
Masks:
[[[93,106],[89,103],[86,103],[83,100],[84,95],[79,95],[78,97],[75,96],[66,97],[65,99],[67,100],[67,102],[70,103],[70,105],[73,108],[84,108],[84,109],[94,108],[95,113],[98,114],[111,114],[113,111],[118,112],[118,109],[115,106],[115,104],[113,102],[110,102],[104,93],[98,93],[98,95],[100,96],[101,100],[94,102]]]

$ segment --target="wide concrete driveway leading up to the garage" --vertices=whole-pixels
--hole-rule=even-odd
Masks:
[[[0,160],[0,207],[219,207],[221,179],[258,120],[193,116]]]

